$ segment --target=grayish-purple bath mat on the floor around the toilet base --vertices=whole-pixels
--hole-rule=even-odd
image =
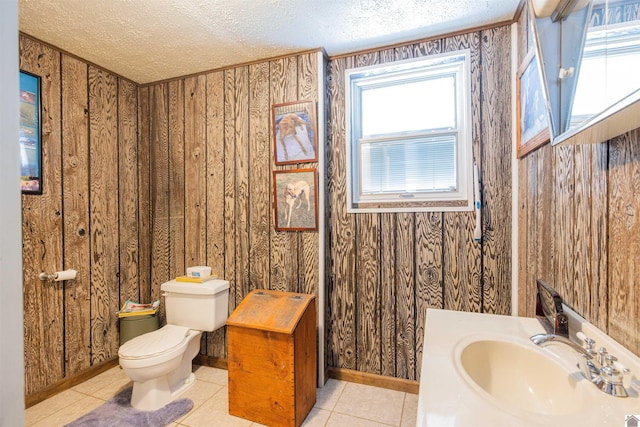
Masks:
[[[193,408],[191,399],[178,399],[157,411],[140,411],[131,406],[129,387],[107,402],[65,425],[65,427],[156,427],[166,426]]]

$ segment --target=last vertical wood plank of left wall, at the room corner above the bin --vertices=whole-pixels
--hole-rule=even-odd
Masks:
[[[134,83],[118,80],[120,302],[140,301],[138,240],[138,102]],[[66,245],[66,243],[65,243]]]

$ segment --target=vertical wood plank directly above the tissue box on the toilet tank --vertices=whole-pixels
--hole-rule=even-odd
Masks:
[[[184,82],[185,267],[207,261],[207,77]]]

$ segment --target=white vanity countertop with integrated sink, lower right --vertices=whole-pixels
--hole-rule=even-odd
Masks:
[[[624,426],[640,414],[640,359],[565,307],[577,332],[606,347],[628,369],[628,397],[604,393],[577,366],[567,345],[538,346],[536,318],[428,309],[416,425]]]

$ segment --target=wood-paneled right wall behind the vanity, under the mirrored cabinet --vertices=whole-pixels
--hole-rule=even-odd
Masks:
[[[533,45],[526,8],[519,59]],[[640,355],[640,129],[592,145],[546,145],[518,162],[519,314],[542,278]]]

